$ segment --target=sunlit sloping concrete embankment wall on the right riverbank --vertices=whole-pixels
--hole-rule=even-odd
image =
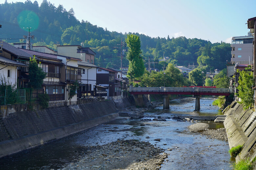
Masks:
[[[227,132],[229,147],[244,145],[236,157],[252,161],[256,157],[256,113],[251,109],[243,110],[243,105],[232,102],[224,112],[224,126]],[[255,162],[254,162],[255,163]]]

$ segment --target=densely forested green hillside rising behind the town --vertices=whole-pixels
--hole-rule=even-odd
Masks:
[[[25,16],[20,13],[24,10]],[[95,64],[100,67],[120,67],[120,49],[114,46],[120,44],[121,38],[124,40],[128,34],[108,31],[92,25],[86,21],[86,17],[81,22],[75,18],[74,10],[67,11],[62,5],[55,7],[47,0],[42,4],[37,1],[27,0],[25,3],[0,4],[0,39],[7,42],[20,42],[23,35],[28,35],[28,30],[23,27],[32,27],[34,45],[47,45],[55,49],[56,44],[60,45],[80,45],[90,47],[96,53]],[[31,12],[32,11],[32,12]],[[23,12],[24,13],[24,12]],[[35,15],[36,14],[36,15]],[[27,21],[38,18],[38,27],[26,25]],[[231,47],[228,43],[211,43],[202,39],[178,38],[151,38],[149,36],[134,33],[141,41],[142,57],[147,68],[148,58],[151,60],[151,67],[162,70],[163,65],[171,62],[177,65],[187,66],[198,63],[206,70],[216,68],[222,70],[226,66],[226,60],[230,60]],[[124,53],[125,55],[125,53]],[[158,59],[168,57],[168,61],[158,63]],[[155,62],[153,64],[153,62]],[[128,66],[128,60],[124,57],[123,67]]]

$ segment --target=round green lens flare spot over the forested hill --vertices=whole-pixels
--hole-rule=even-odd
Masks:
[[[31,31],[37,29],[38,25],[39,25],[39,18],[36,15],[36,13],[34,13],[33,11],[29,11],[29,10],[24,10],[22,11],[18,17],[18,24],[20,26],[20,28],[27,28],[27,27],[31,27]]]

